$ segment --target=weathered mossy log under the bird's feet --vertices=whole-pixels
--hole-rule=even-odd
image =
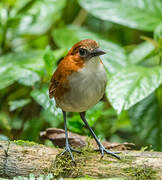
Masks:
[[[0,177],[28,177],[33,173],[52,173],[54,177],[94,178],[126,177],[130,179],[161,179],[162,153],[122,151],[121,160],[109,155],[101,159],[98,152],[84,148],[82,154],[74,153],[76,164],[68,155],[57,156],[62,149],[23,142],[0,141]]]

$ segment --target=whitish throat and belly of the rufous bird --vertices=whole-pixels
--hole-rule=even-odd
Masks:
[[[85,63],[84,68],[73,73],[69,79],[70,91],[58,107],[68,112],[83,112],[98,103],[106,87],[106,71],[99,57]]]

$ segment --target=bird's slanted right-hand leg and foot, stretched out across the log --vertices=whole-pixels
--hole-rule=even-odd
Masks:
[[[117,153],[111,152],[111,151],[107,150],[107,149],[101,144],[101,142],[98,140],[97,136],[95,135],[94,131],[93,131],[92,128],[89,126],[89,124],[88,124],[88,122],[87,122],[87,120],[86,120],[86,118],[85,118],[85,112],[81,112],[81,113],[80,113],[80,117],[81,117],[81,119],[83,120],[83,122],[85,123],[86,127],[90,130],[92,136],[94,137],[94,139],[95,139],[95,141],[96,141],[96,143],[97,143],[97,145],[98,145],[98,147],[99,147],[99,150],[100,150],[100,152],[101,152],[101,157],[104,156],[104,152],[105,152],[105,153],[107,153],[107,154],[110,154],[110,155],[116,157],[117,159],[120,159],[120,157],[119,157],[118,155],[116,155]]]

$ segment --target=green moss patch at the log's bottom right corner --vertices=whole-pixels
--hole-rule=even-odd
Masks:
[[[124,168],[123,171],[127,173],[127,176],[133,177],[136,180],[156,179],[156,171],[146,165]]]

